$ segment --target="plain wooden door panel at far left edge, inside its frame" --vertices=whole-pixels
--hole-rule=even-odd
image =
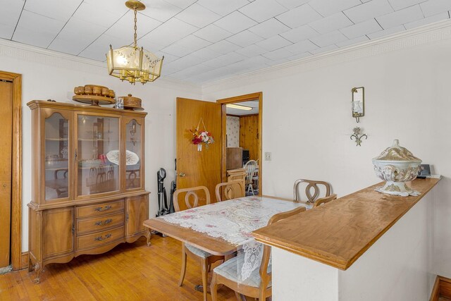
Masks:
[[[10,262],[13,83],[0,81],[0,267]]]

